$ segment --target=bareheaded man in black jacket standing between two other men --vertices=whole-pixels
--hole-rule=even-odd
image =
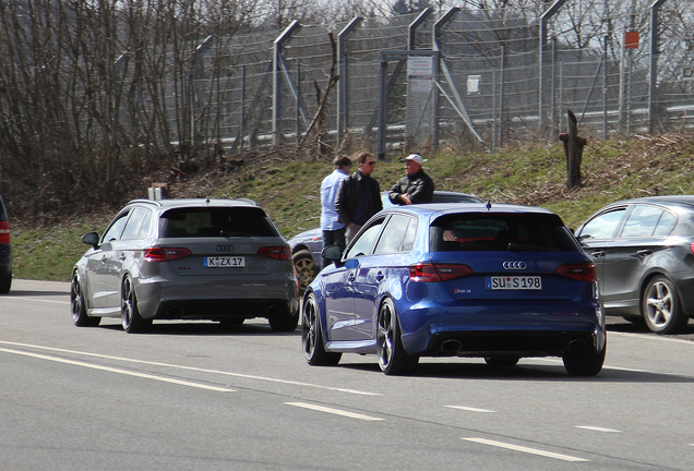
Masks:
[[[339,182],[335,196],[335,210],[339,221],[347,228],[347,242],[374,214],[383,209],[381,186],[371,178],[375,166],[373,155],[361,153],[357,158],[359,170]]]

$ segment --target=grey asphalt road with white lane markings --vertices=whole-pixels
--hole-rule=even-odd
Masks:
[[[0,326],[0,470],[694,469],[694,323],[610,318],[593,378],[560,359],[311,367],[262,319],[76,328],[60,282],[14,280]]]

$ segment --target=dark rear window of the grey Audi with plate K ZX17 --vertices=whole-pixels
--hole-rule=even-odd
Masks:
[[[179,208],[159,218],[160,238],[276,235],[275,226],[258,207]]]

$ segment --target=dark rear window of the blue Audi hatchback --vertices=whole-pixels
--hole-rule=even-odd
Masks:
[[[430,229],[432,252],[554,251],[581,246],[561,218],[547,214],[456,214]]]

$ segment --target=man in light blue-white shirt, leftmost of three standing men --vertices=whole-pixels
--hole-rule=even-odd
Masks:
[[[323,247],[328,245],[339,245],[345,250],[345,226],[339,222],[339,215],[335,210],[335,196],[339,182],[349,176],[351,160],[349,157],[340,155],[333,160],[335,168],[331,174],[323,179],[321,183],[321,229],[323,229]],[[323,266],[327,261],[323,261]]]

